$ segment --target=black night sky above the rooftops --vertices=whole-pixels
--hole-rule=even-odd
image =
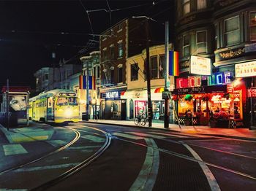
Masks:
[[[89,12],[90,25],[86,10],[108,10],[108,4],[112,10],[111,22],[109,12]],[[80,50],[89,53],[99,48],[99,44],[88,47],[90,39],[99,40],[99,36],[89,34],[101,34],[111,24],[126,17],[153,17],[159,21],[159,30],[165,30],[161,23],[173,19],[171,12],[172,0],[1,0],[0,88],[6,85],[7,78],[10,85],[34,88],[35,71],[45,66],[58,65],[62,58],[69,63],[78,63]],[[172,28],[170,30],[173,31]],[[51,58],[53,51],[56,52],[55,60]]]

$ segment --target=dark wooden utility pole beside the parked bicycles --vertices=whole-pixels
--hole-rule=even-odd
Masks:
[[[148,18],[145,24],[146,29],[146,79],[147,79],[147,92],[148,92],[148,128],[152,127],[152,106],[151,106],[151,66],[149,64],[149,37],[148,37]]]

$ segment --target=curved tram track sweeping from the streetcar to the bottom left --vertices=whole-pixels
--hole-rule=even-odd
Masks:
[[[78,161],[78,163],[69,163],[69,164],[72,164],[72,165],[67,164],[67,166],[69,165],[69,167],[66,170],[63,169],[64,171],[62,171],[61,174],[57,173],[56,175],[52,175],[52,177],[49,177],[48,180],[45,179],[45,181],[42,181],[42,180],[38,179],[39,182],[37,182],[37,183],[23,185],[23,186],[25,186],[25,188],[24,187],[23,188],[19,188],[20,187],[20,186],[18,186],[19,184],[17,185],[17,187],[15,186],[15,184],[14,185],[9,184],[12,187],[12,188],[10,188],[10,190],[12,190],[12,189],[45,190],[46,188],[51,187],[54,184],[57,184],[58,182],[61,182],[63,179],[67,179],[69,176],[72,176],[73,174],[77,173],[82,168],[86,168],[86,166],[88,166],[94,160],[96,160],[97,157],[102,155],[102,153],[105,152],[105,150],[108,149],[108,147],[110,146],[110,142],[111,142],[110,135],[107,132],[105,132],[104,130],[99,130],[97,128],[85,127],[87,129],[97,130],[98,132],[100,132],[100,133],[95,133],[95,132],[90,132],[89,130],[77,130],[75,128],[70,128],[70,127],[65,127],[65,126],[58,127],[58,128],[68,128],[69,130],[72,130],[73,132],[75,132],[75,138],[72,139],[72,141],[69,141],[69,143],[65,144],[63,147],[60,147],[59,149],[56,149],[53,152],[49,152],[47,155],[39,157],[39,158],[37,158],[35,160],[31,160],[31,161],[29,161],[29,163],[23,163],[22,165],[17,165],[15,167],[9,168],[9,169],[7,169],[5,171],[1,171],[0,176],[6,174],[9,177],[13,177],[13,175],[15,175],[15,173],[19,173],[19,172],[23,172],[23,173],[24,172],[28,172],[29,173],[29,172],[32,172],[33,169],[41,168],[40,165],[41,166],[49,166],[50,167],[50,165],[52,164],[52,162],[51,162],[52,160],[50,160],[51,157],[54,157],[54,156],[57,156],[57,155],[61,154],[61,151],[64,151],[64,150],[68,151],[69,147],[73,151],[74,151],[74,149],[72,149],[72,147],[73,148],[74,147],[78,147],[79,144],[76,144],[76,146],[75,146],[75,143],[78,140],[81,140],[80,138],[81,138],[81,133],[82,132],[86,133],[86,134],[92,133],[95,136],[105,136],[106,140],[105,140],[105,142],[104,142],[104,144],[102,146],[99,145],[99,149],[96,147],[97,151],[94,151],[91,154],[89,154],[89,156],[86,156],[86,159],[84,159],[83,158],[84,157],[83,154],[81,154],[80,155],[80,161]],[[72,154],[72,155],[74,155],[74,154]],[[88,155],[88,154],[86,154],[86,155]],[[66,157],[66,158],[69,158],[69,157]],[[72,159],[72,158],[70,157],[70,159]],[[58,160],[56,160],[56,163],[58,164]],[[59,164],[60,164],[59,166],[61,166],[61,163],[59,163]],[[34,166],[38,166],[38,167],[34,168]],[[58,165],[56,165],[56,166],[58,166]],[[24,168],[24,167],[26,167],[26,168]],[[45,169],[47,169],[47,168],[45,168]],[[18,176],[18,174],[17,174],[17,176]],[[23,174],[23,176],[24,176],[24,174]],[[7,176],[4,176],[4,177],[7,177]],[[2,179],[2,181],[3,181],[2,183],[4,183],[6,185],[5,187],[8,187],[7,186],[8,183],[6,182],[7,179]],[[8,182],[11,183],[12,182],[11,179],[9,179]],[[1,186],[4,186],[4,185],[1,185]],[[7,189],[7,188],[1,188],[0,187],[0,190],[1,189]]]

